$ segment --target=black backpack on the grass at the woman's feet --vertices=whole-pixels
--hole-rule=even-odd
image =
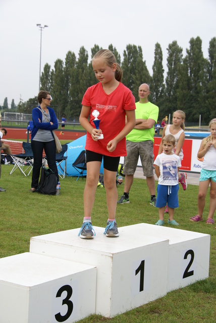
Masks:
[[[42,167],[36,191],[41,194],[56,195],[57,177],[49,168]]]

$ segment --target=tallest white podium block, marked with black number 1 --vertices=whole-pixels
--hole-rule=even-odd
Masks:
[[[90,240],[80,239],[79,229],[32,237],[30,252],[96,266],[96,313],[106,317],[166,295],[166,237],[147,236],[142,225],[119,228],[117,238],[107,238],[104,228],[94,230]]]

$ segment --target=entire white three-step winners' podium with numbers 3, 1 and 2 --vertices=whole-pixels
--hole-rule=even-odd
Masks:
[[[0,323],[113,317],[208,277],[210,235],[141,223],[116,238],[94,227],[86,240],[79,230],[32,237],[30,252],[0,259]]]

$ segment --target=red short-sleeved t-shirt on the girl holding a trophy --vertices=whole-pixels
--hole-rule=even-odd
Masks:
[[[106,94],[101,83],[97,83],[87,89],[82,99],[82,105],[90,106],[90,124],[95,128],[92,112],[97,110],[100,120],[99,128],[102,130],[103,139],[94,141],[87,132],[86,150],[91,150],[106,156],[126,156],[126,139],[118,142],[116,149],[109,152],[107,143],[114,139],[125,127],[125,110],[135,110],[135,98],[132,92],[122,83],[111,93]]]

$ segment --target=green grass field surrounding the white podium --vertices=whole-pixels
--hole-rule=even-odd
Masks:
[[[9,175],[12,166],[2,165],[0,186],[0,257],[28,252],[32,236],[79,228],[83,219],[83,190],[85,179],[67,177],[61,180],[60,196],[30,193],[31,176],[24,177],[18,170]],[[118,186],[118,195],[124,184]],[[182,230],[211,235],[209,278],[193,285],[168,293],[165,297],[132,309],[109,319],[91,315],[82,323],[201,323],[215,322],[216,317],[216,230],[205,222],[192,223],[191,216],[197,213],[198,186],[188,185],[186,191],[180,187],[179,204],[175,219]],[[146,181],[134,179],[130,192],[130,204],[117,206],[116,220],[119,227],[138,223],[155,224],[158,210],[149,204]],[[203,217],[207,218],[209,193]],[[215,217],[214,217],[215,218]],[[167,220],[167,216],[165,216]],[[92,211],[93,226],[105,227],[107,209],[105,189],[97,188]],[[167,222],[167,221],[166,221]],[[168,225],[166,225],[168,226]],[[143,232],[143,235],[145,232]],[[118,242],[117,242],[118,243]],[[163,273],[161,273],[161,276]],[[0,319],[1,320],[1,319]]]

